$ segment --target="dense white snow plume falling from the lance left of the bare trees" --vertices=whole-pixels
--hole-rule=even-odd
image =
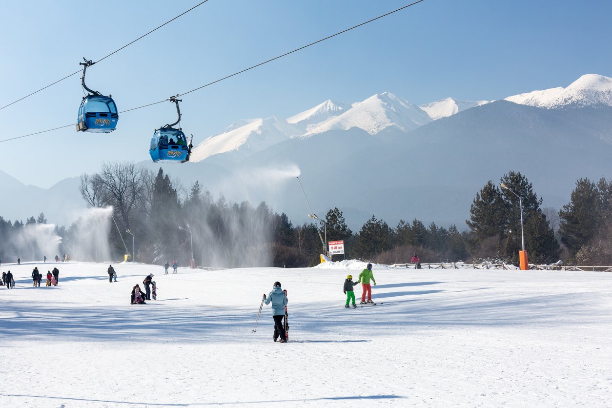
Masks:
[[[108,237],[113,207],[90,208],[70,226],[64,250],[70,259],[86,262],[110,261]]]

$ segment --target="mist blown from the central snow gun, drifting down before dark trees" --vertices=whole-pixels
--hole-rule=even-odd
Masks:
[[[267,166],[250,171],[238,171],[218,185],[220,193],[243,206],[248,201],[255,209],[261,202],[269,202],[278,194],[282,184],[299,176],[297,165]],[[267,207],[266,207],[267,208]],[[274,209],[271,209],[274,210]],[[225,239],[220,240],[218,229],[207,220],[192,220],[194,241],[203,247],[194,250],[196,264],[212,267],[257,267],[272,264],[272,226],[267,213],[255,210],[245,217],[244,212],[229,212],[225,220]],[[228,243],[226,243],[228,242]],[[201,259],[198,259],[201,254]]]

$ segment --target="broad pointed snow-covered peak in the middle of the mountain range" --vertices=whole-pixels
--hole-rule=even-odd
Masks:
[[[383,92],[354,103],[345,113],[312,128],[304,136],[352,127],[362,128],[370,135],[389,127],[408,132],[429,122],[431,118],[418,106],[390,92]]]

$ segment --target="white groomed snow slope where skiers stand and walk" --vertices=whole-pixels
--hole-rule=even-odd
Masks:
[[[345,309],[346,274],[3,264],[0,406],[610,407],[612,273],[375,265],[376,306]],[[337,267],[337,269],[332,269]],[[130,305],[154,273],[158,298]],[[262,294],[288,291],[289,343]],[[356,286],[359,299],[361,288]]]

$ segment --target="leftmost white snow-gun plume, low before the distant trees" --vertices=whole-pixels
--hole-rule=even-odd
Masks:
[[[28,224],[15,237],[15,259],[42,261],[43,256],[52,259],[61,243],[54,224]]]

